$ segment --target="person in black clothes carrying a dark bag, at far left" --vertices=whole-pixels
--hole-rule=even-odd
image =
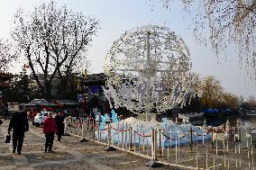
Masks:
[[[23,112],[23,106],[19,106],[19,111],[15,112],[9,123],[8,134],[13,129],[13,153],[15,153],[16,148],[18,155],[21,155],[23,148],[24,133],[29,130],[29,123],[27,119],[27,114]]]

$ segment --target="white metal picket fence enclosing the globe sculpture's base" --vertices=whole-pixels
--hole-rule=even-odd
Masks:
[[[201,133],[198,128],[183,131],[182,136],[179,132],[178,136],[172,136],[161,129],[145,133],[129,123],[118,123],[114,127],[114,123],[110,122],[101,130],[100,122],[95,120],[68,118],[65,122],[69,134],[165,165],[184,169],[254,169],[255,166],[253,133],[248,127],[208,127]],[[112,138],[113,134],[117,138]],[[206,138],[209,135],[211,138]]]

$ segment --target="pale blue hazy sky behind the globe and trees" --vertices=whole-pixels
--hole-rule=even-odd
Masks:
[[[9,32],[16,10],[23,8],[25,11],[31,11],[35,6],[49,0],[0,0],[0,2],[0,38],[10,39]],[[58,5],[66,4],[73,11],[82,12],[100,21],[101,29],[87,53],[91,61],[91,73],[104,71],[107,51],[112,47],[114,40],[125,31],[149,23],[159,24],[169,27],[185,41],[192,58],[193,72],[201,77],[215,76],[226,92],[238,96],[256,96],[256,83],[240,69],[236,56],[227,55],[220,62],[211,49],[197,44],[189,27],[193,25],[191,17],[181,12],[182,7],[178,3],[173,3],[168,11],[162,7],[160,0],[56,0],[56,2]],[[18,73],[22,70],[24,60],[20,58],[19,61],[20,65],[15,65],[11,72]]]

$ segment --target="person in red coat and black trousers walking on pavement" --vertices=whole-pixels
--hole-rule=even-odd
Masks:
[[[42,130],[46,138],[44,152],[53,153],[54,151],[52,151],[52,145],[54,140],[54,134],[58,133],[58,129],[55,119],[52,117],[52,112],[50,112],[48,114],[48,117],[45,118],[45,120],[43,121]]]

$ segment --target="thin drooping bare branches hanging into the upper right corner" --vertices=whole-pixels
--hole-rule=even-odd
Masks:
[[[151,1],[151,0],[150,0]],[[171,9],[174,0],[161,0]],[[196,39],[210,42],[215,54],[239,54],[242,67],[256,79],[256,1],[255,0],[180,0],[194,16]],[[205,33],[204,33],[205,32]],[[208,33],[206,33],[208,32]],[[234,47],[233,47],[234,45]],[[248,71],[250,72],[250,71]]]

